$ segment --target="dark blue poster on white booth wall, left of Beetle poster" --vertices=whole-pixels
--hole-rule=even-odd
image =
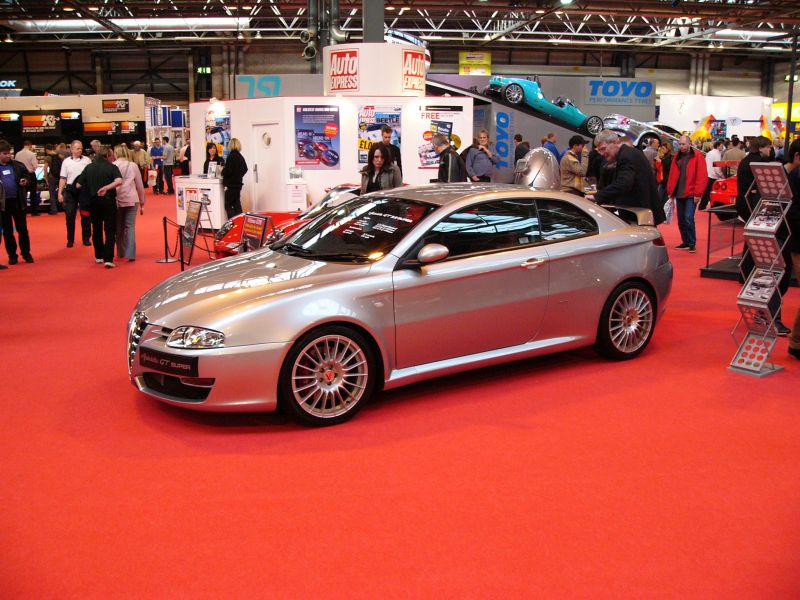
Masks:
[[[311,170],[339,170],[339,107],[294,107],[294,164]]]

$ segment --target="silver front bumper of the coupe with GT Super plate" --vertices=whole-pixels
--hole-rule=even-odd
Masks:
[[[138,338],[132,339],[132,338]],[[129,335],[128,367],[136,388],[175,406],[216,412],[273,412],[278,405],[278,378],[290,343],[254,344],[208,350],[180,350],[166,345],[157,325],[147,324]],[[143,350],[150,358],[142,364]],[[153,368],[152,356],[171,357],[164,368]],[[190,376],[176,364],[194,364]]]

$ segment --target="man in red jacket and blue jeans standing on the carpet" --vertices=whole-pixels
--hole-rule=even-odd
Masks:
[[[703,153],[692,148],[692,140],[683,135],[680,149],[672,160],[667,182],[667,194],[677,201],[678,229],[681,244],[676,250],[696,251],[697,232],[694,227],[694,211],[703,197],[708,182],[708,171]]]

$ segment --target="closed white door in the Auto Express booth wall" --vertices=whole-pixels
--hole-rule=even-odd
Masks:
[[[283,133],[280,123],[253,125],[250,210],[285,211],[286,185],[281,173]]]

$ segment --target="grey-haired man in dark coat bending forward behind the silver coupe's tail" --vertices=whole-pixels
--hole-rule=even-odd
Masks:
[[[598,204],[649,208],[656,225],[666,220],[658,198],[656,176],[650,162],[638,148],[621,143],[615,131],[604,129],[594,138],[594,147],[608,163],[616,162],[614,180],[598,190]]]

